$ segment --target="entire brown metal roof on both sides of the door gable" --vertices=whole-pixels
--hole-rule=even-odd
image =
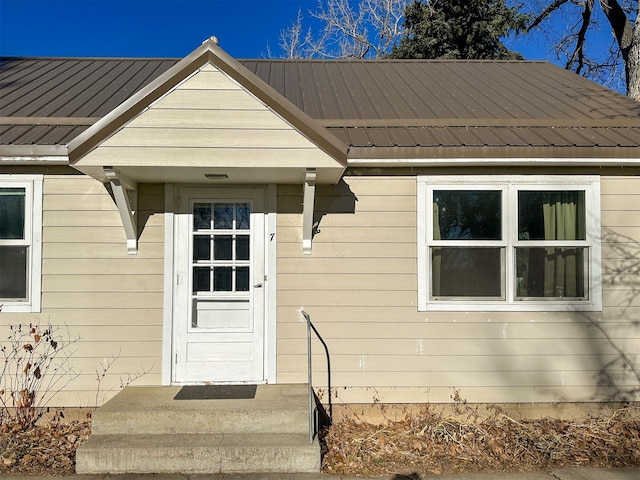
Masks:
[[[1,59],[0,145],[65,145],[177,61]],[[241,63],[350,158],[640,157],[640,103],[544,62]]]

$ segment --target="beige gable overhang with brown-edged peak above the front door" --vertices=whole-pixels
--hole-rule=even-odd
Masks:
[[[347,165],[344,142],[214,38],[68,147],[70,165],[104,183],[107,167],[138,183],[303,183],[315,169],[334,184]]]

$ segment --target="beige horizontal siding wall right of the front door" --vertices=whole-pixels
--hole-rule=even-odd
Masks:
[[[602,178],[602,312],[418,312],[416,178],[318,187],[319,232],[301,254],[297,187],[279,190],[278,381],[304,381],[307,311],[338,401],[602,401],[640,366],[640,179]],[[333,198],[338,194],[338,198]],[[326,386],[319,342],[314,378]],[[637,397],[635,398],[638,399]]]

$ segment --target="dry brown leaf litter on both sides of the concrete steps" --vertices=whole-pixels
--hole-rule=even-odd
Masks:
[[[0,476],[69,475],[90,423],[53,421],[0,431]],[[335,423],[324,437],[323,471],[347,476],[407,472],[534,471],[568,466],[640,465],[640,413],[580,421],[514,420],[499,410],[444,416],[425,408],[401,421]]]

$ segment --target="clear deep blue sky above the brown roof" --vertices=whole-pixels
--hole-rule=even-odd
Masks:
[[[279,32],[317,0],[0,0],[0,55],[184,57],[215,35],[236,58],[279,52]],[[512,48],[539,60],[531,41]]]

